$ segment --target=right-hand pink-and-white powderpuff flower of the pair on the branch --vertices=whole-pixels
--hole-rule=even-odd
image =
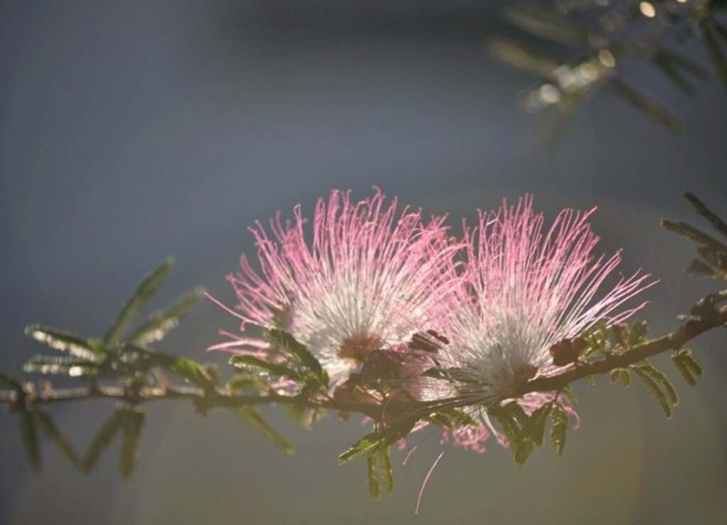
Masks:
[[[623,306],[656,284],[640,271],[607,285],[622,256],[593,256],[593,212],[565,209],[546,229],[524,196],[479,212],[474,231],[465,227],[464,284],[448,309],[442,356],[461,396],[481,405],[513,396],[523,382],[572,366],[574,356],[563,355],[582,350],[582,332],[624,321],[646,304]],[[529,394],[521,404],[531,412],[550,399]]]

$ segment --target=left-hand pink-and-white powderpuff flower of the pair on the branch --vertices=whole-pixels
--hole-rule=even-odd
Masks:
[[[374,350],[406,344],[434,327],[446,297],[458,286],[444,217],[422,223],[420,211],[385,196],[354,202],[350,192],[319,199],[312,236],[300,205],[294,220],[278,213],[270,232],[251,228],[260,271],[246,256],[228,276],[236,292],[243,337],[214,348],[264,353],[267,343],[247,337],[248,325],[284,329],[318,357],[334,384]]]

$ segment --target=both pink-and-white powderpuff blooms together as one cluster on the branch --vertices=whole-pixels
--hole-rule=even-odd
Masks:
[[[310,225],[300,206],[293,220],[257,223],[259,265],[243,256],[228,277],[242,333],[214,348],[264,358],[269,343],[249,326],[283,330],[318,358],[337,398],[468,406],[478,417],[443,439],[481,452],[491,431],[501,438],[488,406],[574,366],[580,334],[632,316],[643,303],[624,303],[654,284],[640,272],[614,278],[620,252],[594,257],[595,209],[546,226],[524,196],[479,212],[456,238],[445,217],[397,208],[378,190],[364,201],[333,191]],[[518,398],[528,413],[552,401]]]

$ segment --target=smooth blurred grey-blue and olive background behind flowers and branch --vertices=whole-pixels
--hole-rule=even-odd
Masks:
[[[624,271],[661,279],[643,317],[655,334],[675,326],[714,286],[683,273],[693,247],[659,218],[698,222],[686,189],[727,215],[723,87],[690,99],[656,86],[680,136],[603,94],[555,147],[536,148],[516,104],[531,77],[486,51],[507,31],[501,5],[1,2],[0,368],[17,371],[42,350],[23,335],[33,321],[103,334],[167,255],[177,268],[153,306],[197,284],[233,302],[224,276],[252,252],[254,220],[310,210],[331,188],[364,198],[371,185],[454,223],[525,192],[550,217],[598,204],[601,249],[624,247]],[[203,303],[162,348],[224,364],[204,349],[235,328]],[[17,419],[0,414],[0,523],[723,524],[725,346],[723,333],[694,344],[707,371],[694,390],[664,367],[681,393],[673,420],[641,385],[601,379],[577,385],[582,428],[561,458],[540,449],[515,468],[494,442],[483,455],[445,449],[417,516],[436,437],[396,468],[393,497],[374,502],[365,465],[336,464],[366,432],[357,420],[306,431],[269,410],[297,446],[289,457],[232,414],[155,404],[124,482],[119,444],[88,476],[44,446],[34,475]],[[97,401],[52,409],[79,447],[110,411]]]

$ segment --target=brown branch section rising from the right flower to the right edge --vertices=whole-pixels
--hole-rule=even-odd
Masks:
[[[675,332],[635,346],[624,353],[614,354],[598,361],[577,364],[571,369],[550,377],[538,377],[526,382],[518,390],[518,396],[529,392],[555,392],[562,390],[571,382],[596,374],[608,374],[611,370],[625,368],[646,358],[656,356],[667,350],[678,350],[695,337],[727,324],[727,306],[713,310],[714,315],[693,318],[682,324]]]

